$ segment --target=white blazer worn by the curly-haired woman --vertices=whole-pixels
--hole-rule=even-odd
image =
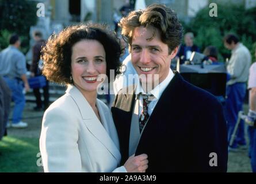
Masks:
[[[97,99],[101,122],[75,86],[45,111],[40,152],[45,172],[126,172],[108,106]],[[118,168],[117,168],[118,167]]]

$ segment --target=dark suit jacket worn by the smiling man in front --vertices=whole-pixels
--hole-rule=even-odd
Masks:
[[[135,95],[122,93],[113,102],[112,114],[124,164]],[[175,73],[148,119],[135,155],[139,154],[148,155],[147,172],[226,172],[227,128],[221,104]],[[217,166],[210,166],[216,156]]]

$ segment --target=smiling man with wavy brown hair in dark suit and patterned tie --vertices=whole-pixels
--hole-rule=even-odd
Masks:
[[[145,153],[147,172],[227,171],[220,103],[170,70],[182,40],[176,13],[165,5],[150,5],[132,11],[120,26],[133,67],[142,76],[137,86],[120,90],[112,106],[121,162]]]

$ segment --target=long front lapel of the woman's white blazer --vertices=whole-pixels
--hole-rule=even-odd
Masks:
[[[108,132],[101,124],[98,117],[95,115],[93,109],[86,101],[86,98],[83,97],[82,93],[75,86],[68,86],[66,93],[70,94],[74,99],[75,103],[78,106],[79,112],[81,113],[81,117],[83,122],[85,122],[86,127],[89,129],[92,135],[94,135],[105,147],[106,149],[117,159],[119,162],[121,155],[119,152],[119,148],[116,146],[114,141],[110,138]],[[99,105],[98,110],[100,112],[102,121],[105,121],[105,114],[102,113],[102,108]]]

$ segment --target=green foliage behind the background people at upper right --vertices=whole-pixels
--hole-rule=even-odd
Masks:
[[[208,6],[201,9],[185,26],[185,32],[191,31],[195,34],[194,43],[201,51],[208,45],[213,45],[218,48],[224,59],[230,56],[230,51],[223,46],[223,37],[232,32],[239,36],[240,41],[251,53],[254,53],[256,7],[244,9],[243,6],[218,3],[217,17],[210,17],[209,10],[211,9]]]

